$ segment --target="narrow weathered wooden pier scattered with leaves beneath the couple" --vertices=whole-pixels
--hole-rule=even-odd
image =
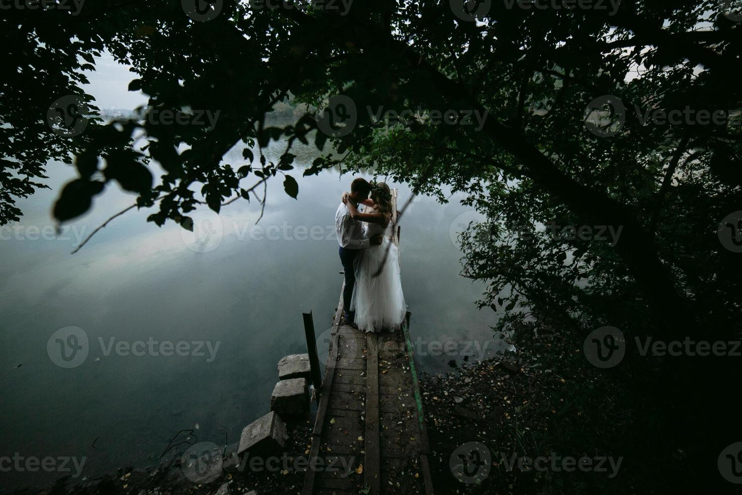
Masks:
[[[398,246],[397,195],[394,189],[390,240]],[[309,459],[352,470],[310,467],[302,494],[433,495],[410,313],[401,331],[364,334],[341,324],[342,289],[340,294]],[[344,462],[338,464],[339,458]]]

